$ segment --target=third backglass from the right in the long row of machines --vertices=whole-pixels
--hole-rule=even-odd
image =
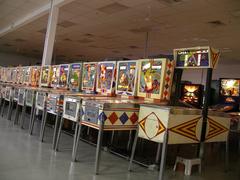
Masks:
[[[98,89],[101,89],[101,91],[111,90],[114,78],[114,71],[114,63],[98,64]]]

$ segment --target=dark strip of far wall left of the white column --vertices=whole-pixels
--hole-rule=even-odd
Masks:
[[[0,52],[0,66],[35,65],[41,61],[32,57]]]

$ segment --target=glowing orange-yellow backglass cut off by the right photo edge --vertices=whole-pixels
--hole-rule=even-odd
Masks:
[[[239,96],[240,80],[238,79],[221,79],[220,94],[222,96]]]

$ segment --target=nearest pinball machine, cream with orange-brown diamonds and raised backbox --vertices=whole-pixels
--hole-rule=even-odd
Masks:
[[[138,137],[162,144],[161,155],[160,151],[157,151],[157,162],[161,156],[160,180],[163,179],[167,146],[169,144],[200,144],[200,146],[197,147],[201,147],[199,152],[203,152],[203,144],[206,142],[227,142],[229,116],[222,112],[208,110],[210,99],[210,93],[208,93],[208,91],[211,84],[212,69],[217,65],[219,54],[218,50],[208,46],[174,49],[174,60],[176,62],[174,78],[176,78],[176,75],[180,77],[176,78],[178,81],[175,82],[175,86],[177,87],[175,90],[181,88],[181,75],[184,69],[207,69],[203,108],[141,105],[138,119],[138,132],[134,140],[129,170],[131,170]],[[141,71],[141,74],[144,73],[144,71]],[[165,82],[167,79],[172,80],[172,78],[165,77]],[[146,81],[145,78],[140,79],[140,81],[141,80]],[[140,88],[144,89],[143,87],[145,86],[140,85]],[[171,85],[164,85],[163,87],[167,88],[171,87]],[[159,90],[160,89],[161,88],[159,88]],[[162,92],[162,95],[165,95],[164,90],[157,92]],[[214,128],[215,125],[221,130],[219,129],[216,132],[212,132],[212,128]],[[201,161],[201,155],[200,153],[199,158],[196,159]]]

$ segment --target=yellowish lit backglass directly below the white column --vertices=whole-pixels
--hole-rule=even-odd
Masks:
[[[41,87],[49,87],[51,85],[52,67],[50,65],[41,67]]]

